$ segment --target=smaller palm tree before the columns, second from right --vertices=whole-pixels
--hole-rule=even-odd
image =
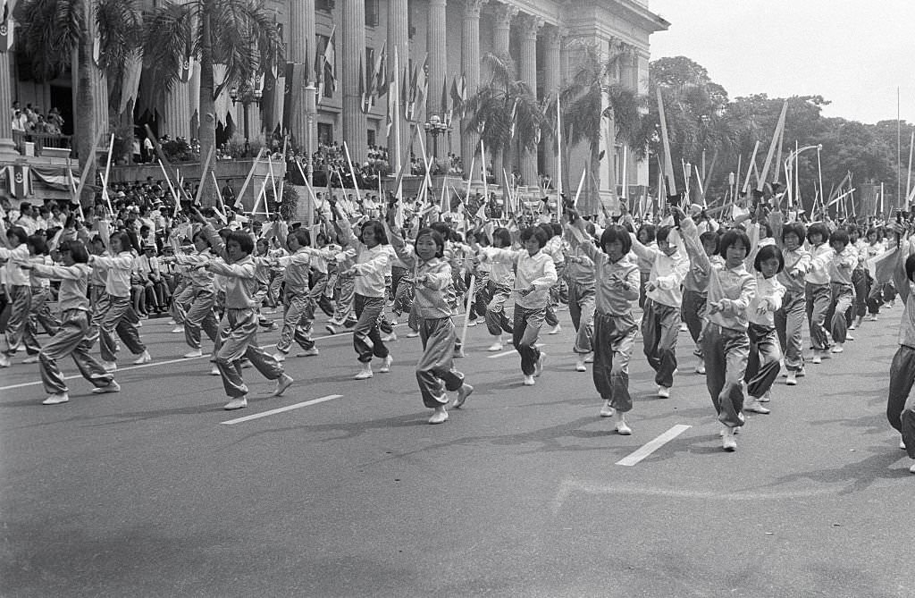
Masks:
[[[547,122],[533,90],[517,80],[514,62],[508,56],[489,53],[483,57],[483,64],[492,73],[490,82],[468,98],[465,133],[478,133],[491,156],[501,156],[503,161],[512,143],[522,150],[535,150],[538,131]],[[494,174],[504,186],[501,172]]]

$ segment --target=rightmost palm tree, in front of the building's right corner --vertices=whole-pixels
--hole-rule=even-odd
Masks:
[[[607,57],[593,44],[585,45],[582,50],[571,82],[559,95],[563,106],[564,164],[569,163],[568,152],[579,143],[588,144],[592,173],[599,170],[601,159],[613,160],[612,156],[600,155],[604,118],[613,122],[615,139],[628,143],[636,157],[644,158],[648,148],[641,116],[645,99],[616,81],[620,61],[628,56],[627,51],[618,48]],[[554,113],[555,109],[550,111]],[[607,147],[614,147],[615,139],[608,139]]]

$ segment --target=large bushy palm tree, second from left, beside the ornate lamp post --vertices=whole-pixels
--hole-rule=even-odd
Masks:
[[[199,141],[201,159],[206,159],[216,146],[215,103],[220,94],[241,87],[264,68],[284,68],[274,16],[262,0],[190,0],[167,2],[149,16],[146,27],[145,63],[163,97],[178,82],[186,56],[200,61]],[[218,87],[213,80],[215,64],[226,67]]]

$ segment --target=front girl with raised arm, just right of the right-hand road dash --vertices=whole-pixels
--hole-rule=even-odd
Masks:
[[[712,266],[702,244],[699,231],[691,218],[681,211],[686,251],[694,267],[708,275],[708,322],[703,332],[702,351],[705,355],[705,386],[718,413],[725,451],[736,451],[735,430],[743,426],[743,379],[747,370],[749,339],[747,308],[756,296],[756,278],[747,271],[744,259],[750,243],[746,233],[731,230],[721,237],[719,255],[724,266]]]

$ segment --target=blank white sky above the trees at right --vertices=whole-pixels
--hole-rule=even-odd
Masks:
[[[735,98],[820,94],[825,116],[915,123],[912,0],[649,0],[671,23],[651,60],[686,56]]]

